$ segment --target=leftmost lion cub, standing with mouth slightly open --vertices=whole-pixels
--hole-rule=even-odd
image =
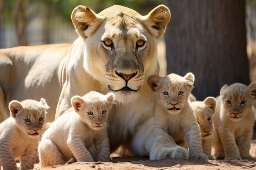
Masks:
[[[20,157],[21,170],[33,169],[48,108],[43,98],[9,103],[11,117],[0,124],[0,168],[17,170],[15,159]]]

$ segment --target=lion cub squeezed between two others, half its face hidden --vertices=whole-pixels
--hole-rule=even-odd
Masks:
[[[215,160],[216,158],[211,155],[211,143],[213,133],[213,114],[216,111],[216,99],[214,97],[207,97],[203,102],[191,102],[195,119],[201,132],[203,152],[209,159]]]

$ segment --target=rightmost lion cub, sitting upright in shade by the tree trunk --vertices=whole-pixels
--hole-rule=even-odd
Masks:
[[[255,120],[254,103],[256,83],[249,86],[235,83],[224,85],[216,98],[217,109],[213,115],[214,155],[217,159],[251,159],[250,143]]]

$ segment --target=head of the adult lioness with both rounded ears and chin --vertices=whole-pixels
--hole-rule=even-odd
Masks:
[[[76,19],[82,15],[77,11],[83,11],[83,15],[90,13],[90,18],[94,18],[87,21],[91,24],[85,24],[91,30],[82,31],[86,44],[84,68],[108,86],[119,102],[134,101],[144,86],[145,76],[159,73],[157,39],[170,20],[169,10],[159,6],[141,16],[132,9],[115,5],[95,14],[79,6],[72,13],[74,25],[79,25]],[[98,27],[91,26],[97,24]]]

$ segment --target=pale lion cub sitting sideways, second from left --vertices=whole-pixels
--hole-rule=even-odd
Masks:
[[[64,164],[72,157],[92,162],[95,154],[89,148],[93,145],[96,159],[109,161],[106,120],[113,103],[112,93],[91,91],[83,97],[72,97],[74,111],[58,117],[43,134],[38,147],[40,167]]]

